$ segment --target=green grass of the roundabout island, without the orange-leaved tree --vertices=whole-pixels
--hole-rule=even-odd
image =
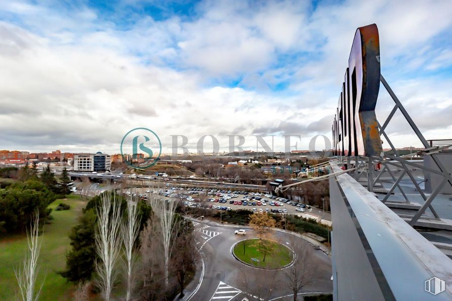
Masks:
[[[264,262],[264,254],[257,250],[257,239],[247,239],[237,243],[233,252],[241,261],[258,268],[276,269],[290,264],[293,260],[292,251],[280,243],[271,241],[272,251],[267,253]],[[245,244],[245,253],[243,254],[243,244]],[[258,261],[253,261],[252,259]]]

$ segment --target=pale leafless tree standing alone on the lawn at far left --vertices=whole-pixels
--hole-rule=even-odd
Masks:
[[[25,258],[19,270],[15,271],[17,283],[19,285],[20,294],[22,300],[33,301],[37,300],[42,289],[42,285],[39,290],[35,291],[36,277],[38,274],[37,260],[39,257],[39,250],[43,239],[38,238],[39,235],[39,211],[33,213],[33,217],[30,222],[30,232],[27,231],[27,243],[28,252],[25,254]]]

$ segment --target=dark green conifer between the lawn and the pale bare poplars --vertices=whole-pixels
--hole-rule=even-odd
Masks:
[[[59,274],[72,282],[86,282],[94,273],[96,214],[87,210],[69,235],[72,249],[66,254],[66,270]]]

